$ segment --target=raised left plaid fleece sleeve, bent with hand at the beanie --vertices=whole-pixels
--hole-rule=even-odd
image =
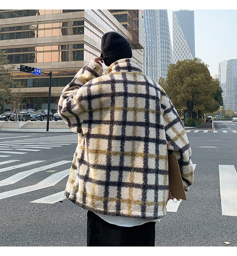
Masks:
[[[94,61],[88,61],[63,89],[58,101],[58,114],[73,132],[82,133],[81,125],[85,113],[82,88],[86,82],[102,75],[102,67]]]

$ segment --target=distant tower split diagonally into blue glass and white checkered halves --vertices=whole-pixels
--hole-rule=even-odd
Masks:
[[[173,61],[195,58],[194,11],[179,10],[173,15]]]

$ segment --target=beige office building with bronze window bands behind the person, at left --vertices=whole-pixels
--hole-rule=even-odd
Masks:
[[[137,13],[138,23],[138,10],[132,11]],[[50,109],[56,112],[64,86],[83,65],[100,56],[101,37],[109,31],[131,42],[133,58],[143,68],[144,37],[140,34],[135,40],[132,30],[127,30],[108,10],[0,10],[0,49],[15,65],[13,78],[26,85],[21,109],[47,109],[49,76],[19,72],[20,64],[45,73],[52,71]],[[105,64],[103,68],[106,73]],[[12,108],[10,104],[1,106],[0,113]]]

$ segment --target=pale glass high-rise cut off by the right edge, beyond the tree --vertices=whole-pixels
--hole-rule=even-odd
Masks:
[[[222,61],[218,65],[218,76],[223,90],[225,109],[237,109],[237,59]]]

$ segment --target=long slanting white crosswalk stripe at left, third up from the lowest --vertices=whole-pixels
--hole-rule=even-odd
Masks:
[[[44,170],[47,170],[49,168],[53,168],[55,166],[63,165],[63,164],[70,163],[70,162],[71,161],[60,161],[60,162],[57,162],[57,163],[52,163],[52,164],[49,164],[49,165],[40,166],[38,168],[34,168],[34,169],[31,169],[31,170],[27,170],[27,171],[24,171],[24,172],[17,173],[15,175],[10,176],[7,179],[1,180],[0,181],[0,186],[14,184],[17,181],[23,180],[24,178],[30,176],[33,173],[44,171]]]

